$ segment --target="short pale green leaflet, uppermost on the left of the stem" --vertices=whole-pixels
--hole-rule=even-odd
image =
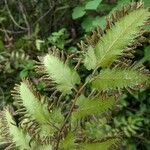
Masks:
[[[43,59],[43,65],[46,73],[57,84],[56,88],[64,94],[71,93],[75,84],[80,83],[78,73],[60,61],[58,57],[51,54],[46,55]]]

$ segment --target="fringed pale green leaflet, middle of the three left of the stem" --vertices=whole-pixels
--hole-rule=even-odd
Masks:
[[[26,124],[27,130],[34,130],[34,133],[29,132],[31,137],[36,133],[42,141],[46,138],[50,140],[50,137],[64,121],[61,109],[51,108],[51,111],[49,111],[46,98],[39,95],[27,80],[21,82],[15,89],[18,95],[14,95],[14,98],[18,99],[20,107],[25,108],[25,112],[22,112],[25,119],[21,120],[21,125]],[[33,122],[38,126],[31,126]]]

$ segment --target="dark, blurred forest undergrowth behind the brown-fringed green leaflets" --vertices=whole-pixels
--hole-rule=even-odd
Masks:
[[[130,0],[1,0],[0,1],[0,108],[13,103],[10,91],[22,78],[29,77],[44,92],[44,83],[34,71],[35,60],[51,46],[68,53],[105,18]],[[150,0],[144,0],[150,7]],[[135,50],[135,60],[150,68],[150,26]],[[118,113],[119,111],[119,113]],[[89,134],[123,132],[124,149],[150,150],[150,86],[139,92],[127,91],[114,112],[110,125],[88,124]],[[90,130],[92,129],[92,130]],[[102,132],[103,131],[103,132]]]

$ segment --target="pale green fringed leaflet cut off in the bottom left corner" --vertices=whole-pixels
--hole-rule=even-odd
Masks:
[[[10,143],[9,148],[30,149],[30,136],[17,127],[9,109],[6,108],[0,115],[0,133],[3,140]]]

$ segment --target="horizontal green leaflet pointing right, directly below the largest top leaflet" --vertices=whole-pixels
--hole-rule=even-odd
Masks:
[[[133,69],[104,69],[92,81],[92,87],[98,90],[116,90],[142,85],[148,76]]]

